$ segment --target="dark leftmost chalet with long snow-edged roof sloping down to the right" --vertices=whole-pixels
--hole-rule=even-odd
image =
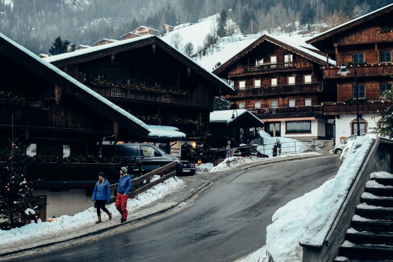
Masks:
[[[92,148],[103,139],[136,141],[149,134],[148,126],[1,33],[0,57],[0,149],[10,147],[7,138],[18,137],[26,154],[46,161],[33,163],[27,172],[28,179],[41,180],[34,194],[44,205],[42,221],[85,210],[98,172],[116,181],[119,164],[59,159],[97,157]],[[114,173],[107,172],[113,168]],[[61,190],[67,192],[54,192]]]

